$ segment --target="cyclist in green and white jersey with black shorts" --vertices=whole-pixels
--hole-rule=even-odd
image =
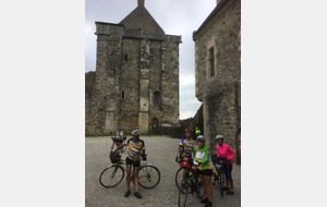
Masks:
[[[206,198],[202,199],[202,204],[206,204],[205,207],[211,207],[211,174],[213,174],[213,163],[210,160],[210,149],[205,145],[205,137],[199,135],[196,137],[197,146],[195,147],[195,160],[194,165],[198,166],[199,179],[203,184],[203,188]]]

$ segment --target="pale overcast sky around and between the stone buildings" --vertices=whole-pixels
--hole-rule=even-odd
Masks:
[[[194,117],[195,54],[192,34],[216,7],[216,0],[145,0],[145,8],[168,35],[181,35],[180,119]],[[137,0],[85,0],[85,72],[96,70],[95,22],[119,23],[137,7]]]

